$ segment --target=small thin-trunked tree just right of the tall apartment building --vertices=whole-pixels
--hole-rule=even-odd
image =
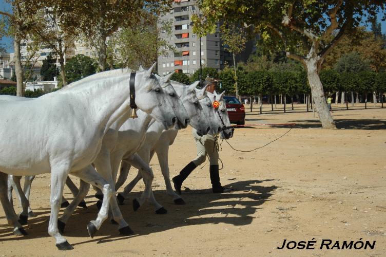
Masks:
[[[235,24],[224,23],[223,25],[221,25],[221,39],[223,40],[222,45],[224,46],[224,48],[227,49],[230,53],[232,53],[233,56],[236,97],[241,100],[241,97],[239,96],[239,89],[237,87],[235,56],[245,49],[246,35],[243,28],[240,28],[240,26]]]

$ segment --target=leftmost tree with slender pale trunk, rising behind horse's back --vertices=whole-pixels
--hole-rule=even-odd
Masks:
[[[24,78],[21,62],[20,44],[25,39],[28,32],[33,28],[35,22],[34,13],[37,6],[30,4],[27,0],[7,0],[11,4],[12,11],[1,10],[0,14],[6,19],[8,24],[7,34],[13,38],[15,76],[16,76],[16,95],[24,96]]]

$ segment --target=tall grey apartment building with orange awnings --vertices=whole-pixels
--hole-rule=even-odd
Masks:
[[[177,53],[170,51],[165,56],[158,57],[160,75],[166,75],[173,70],[192,75],[200,69],[199,38],[192,32],[191,26],[191,16],[199,14],[196,2],[196,0],[175,0],[171,11],[159,19],[160,28],[165,22],[171,22],[171,34],[161,31],[160,36],[177,50]],[[218,25],[216,33],[201,38],[201,63],[203,66],[220,70],[224,67],[225,61],[231,61],[231,54],[224,51]]]

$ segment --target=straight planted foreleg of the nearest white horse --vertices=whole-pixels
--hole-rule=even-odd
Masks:
[[[51,163],[51,195],[50,195],[50,221],[48,233],[55,238],[56,247],[59,250],[71,250],[73,247],[67,242],[57,227],[57,216],[59,214],[63,195],[64,183],[70,171],[68,163]]]

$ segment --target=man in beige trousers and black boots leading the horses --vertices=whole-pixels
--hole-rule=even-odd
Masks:
[[[214,93],[218,80],[207,77],[204,81],[204,85],[207,85],[206,90],[210,93]],[[195,129],[192,130],[193,137],[197,146],[197,158],[189,162],[185,168],[183,168],[179,175],[172,178],[174,188],[178,194],[181,194],[181,187],[184,180],[189,174],[197,168],[200,164],[205,162],[206,155],[209,157],[209,173],[210,182],[212,184],[213,193],[224,193],[225,188],[221,186],[219,175],[219,153],[215,149],[215,137],[213,135],[205,135],[200,137],[197,135]]]

